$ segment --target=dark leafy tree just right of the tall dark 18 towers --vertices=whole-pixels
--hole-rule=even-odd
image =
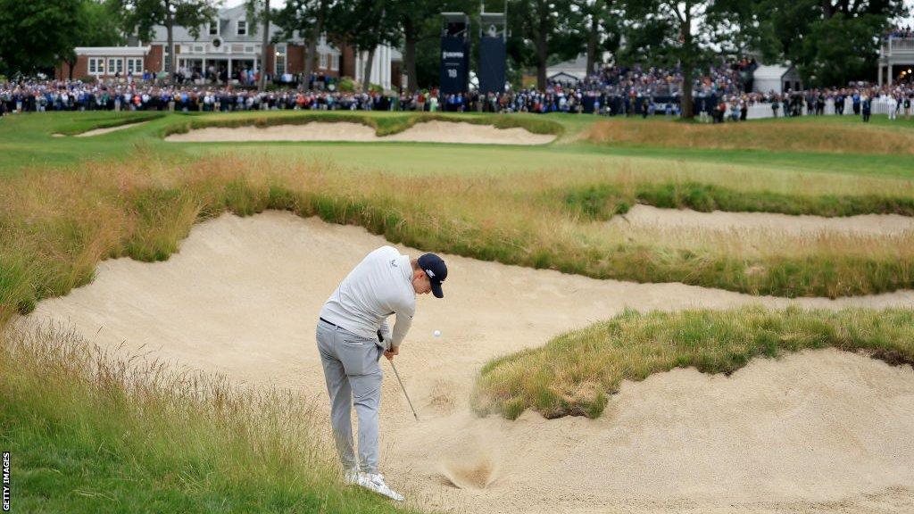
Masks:
[[[546,89],[550,59],[570,59],[583,48],[581,13],[569,2],[513,0],[508,4],[508,53],[519,66],[537,67],[537,88]]]

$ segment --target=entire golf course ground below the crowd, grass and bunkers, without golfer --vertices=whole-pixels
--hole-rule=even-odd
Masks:
[[[914,511],[912,157],[884,115],[5,116],[13,511]],[[416,417],[380,361],[401,504],[344,485],[314,332],[384,245],[449,270]]]

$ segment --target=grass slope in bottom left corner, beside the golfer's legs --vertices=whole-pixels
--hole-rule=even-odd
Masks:
[[[14,512],[402,512],[344,487],[313,401],[119,356],[58,327],[0,331]]]

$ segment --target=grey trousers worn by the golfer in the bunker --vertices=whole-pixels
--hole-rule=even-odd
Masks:
[[[317,322],[317,349],[324,365],[324,380],[330,395],[330,425],[336,452],[344,469],[356,467],[351,412],[358,415],[358,463],[364,473],[377,473],[377,412],[381,405],[378,366],[384,349],[377,339],[361,337],[324,321]]]

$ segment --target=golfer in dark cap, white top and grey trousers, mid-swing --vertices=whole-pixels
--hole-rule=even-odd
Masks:
[[[377,361],[399,355],[416,312],[416,294],[430,291],[441,298],[448,268],[441,257],[425,253],[418,259],[382,246],[346,275],[324,304],[317,324],[317,349],[330,394],[330,424],[346,484],[366,487],[399,501],[403,496],[377,472],[377,411],[381,372]],[[387,317],[397,315],[393,331]],[[358,415],[358,462],[353,452],[350,412]]]

